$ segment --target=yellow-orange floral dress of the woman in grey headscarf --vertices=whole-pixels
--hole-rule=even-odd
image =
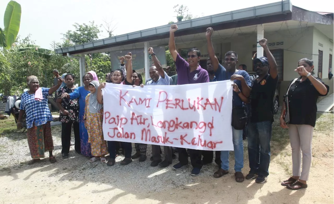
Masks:
[[[89,111],[90,95],[86,97],[85,115],[86,126],[88,132],[88,142],[91,143],[92,155],[101,156],[108,154],[107,142],[103,137],[102,123],[103,123],[103,108],[97,113]]]

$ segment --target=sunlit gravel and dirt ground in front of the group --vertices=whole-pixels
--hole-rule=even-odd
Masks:
[[[272,158],[267,182],[234,180],[231,153],[230,173],[214,178],[216,164],[204,166],[197,177],[191,167],[182,170],[151,167],[148,159],[134,160],[127,166],[108,167],[100,162],[88,163],[74,153],[61,158],[60,127],[52,128],[57,162],[44,161],[27,165],[30,160],[25,134],[0,135],[0,204],[20,203],[108,203],[108,204],[332,204],[334,203],[334,114],[318,114],[313,137],[313,161],[308,188],[292,191],[280,183],[292,172],[291,148],[287,131],[275,116]],[[243,173],[249,171],[247,142],[244,141]],[[47,154],[46,154],[47,155]],[[117,161],[123,157],[119,156]],[[177,163],[176,160],[173,164]]]

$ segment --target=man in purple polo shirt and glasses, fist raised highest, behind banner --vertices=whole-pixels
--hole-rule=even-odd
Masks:
[[[176,51],[174,32],[177,31],[177,25],[173,24],[169,29],[169,51],[172,55],[177,71],[177,84],[197,84],[209,82],[209,75],[206,70],[198,65],[201,53],[196,48],[188,50],[187,59],[185,61]],[[188,153],[184,148],[177,148],[179,152],[179,163],[173,166],[174,169],[180,169],[188,164]],[[189,149],[190,161],[193,169],[192,176],[197,176],[202,168],[202,151],[196,149]]]

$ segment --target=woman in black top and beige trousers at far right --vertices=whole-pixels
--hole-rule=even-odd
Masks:
[[[283,118],[285,104],[280,117],[281,127],[289,128],[292,149],[292,176],[283,181],[282,185],[291,190],[307,188],[312,158],[312,136],[317,116],[317,100],[326,96],[329,87],[320,78],[312,74],[313,60],[308,58],[298,62],[295,70],[301,76],[293,80],[288,90],[290,121],[287,125]],[[311,74],[312,73],[312,74]],[[301,152],[303,153],[303,171],[301,172]]]

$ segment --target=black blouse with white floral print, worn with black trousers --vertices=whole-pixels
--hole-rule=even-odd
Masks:
[[[68,87],[62,87],[58,92],[57,99],[61,99],[61,95],[63,93],[72,93],[74,89],[70,89]],[[61,106],[65,108],[65,110],[68,111],[68,115],[64,115],[62,111],[60,111],[59,114],[59,121],[60,122],[66,122],[66,123],[78,123],[79,122],[79,101],[78,99],[66,99],[63,98],[61,101]]]

